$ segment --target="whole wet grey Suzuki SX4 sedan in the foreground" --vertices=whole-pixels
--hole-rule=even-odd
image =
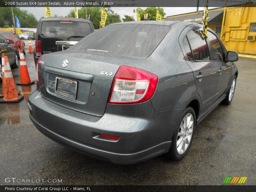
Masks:
[[[37,62],[30,118],[47,137],[88,156],[133,164],[182,159],[196,124],[234,95],[238,60],[212,30],[137,21],[101,28]]]

